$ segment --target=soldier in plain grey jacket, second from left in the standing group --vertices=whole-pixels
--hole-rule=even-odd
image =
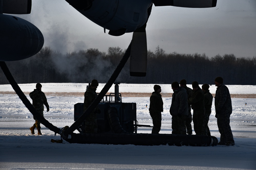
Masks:
[[[170,107],[172,115],[172,134],[186,135],[186,117],[188,116],[188,95],[185,88],[180,87],[178,82],[172,83],[173,96]]]

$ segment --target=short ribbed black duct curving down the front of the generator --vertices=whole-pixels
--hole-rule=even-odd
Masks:
[[[114,107],[108,109],[108,121],[111,129],[114,133],[128,133],[126,132],[120,124],[120,120],[117,114],[117,110]],[[128,133],[129,134],[129,133]]]

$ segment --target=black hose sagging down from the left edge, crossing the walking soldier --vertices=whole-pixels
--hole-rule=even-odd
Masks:
[[[13,87],[14,91],[19,96],[20,100],[25,104],[25,106],[28,108],[28,110],[35,116],[45,127],[50,129],[51,131],[55,132],[56,134],[60,134],[60,128],[52,125],[49,123],[43,116],[41,116],[40,113],[36,111],[36,109],[32,106],[30,101],[27,99],[27,97],[24,95],[23,91],[19,88],[19,85],[14,80],[12,74],[10,73],[8,67],[6,66],[6,63],[4,61],[0,61],[1,69],[3,70],[7,80],[9,81],[10,85]]]

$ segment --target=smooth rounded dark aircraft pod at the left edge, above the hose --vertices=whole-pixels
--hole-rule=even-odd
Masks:
[[[0,61],[16,61],[38,53],[44,45],[41,31],[32,23],[0,14]]]

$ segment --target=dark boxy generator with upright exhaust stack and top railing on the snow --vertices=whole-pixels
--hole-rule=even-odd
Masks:
[[[137,133],[136,103],[123,103],[119,93],[119,83],[115,84],[115,93],[105,95],[98,104],[98,133]],[[88,87],[88,86],[87,86]],[[83,114],[83,103],[74,105],[74,121]],[[84,122],[77,128],[83,133]]]

